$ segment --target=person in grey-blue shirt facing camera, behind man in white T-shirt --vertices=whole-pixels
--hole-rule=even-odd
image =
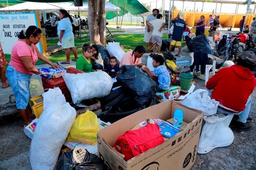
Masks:
[[[152,14],[149,14],[147,19],[146,19],[146,26],[145,26],[145,33],[144,33],[144,42],[146,42],[146,53],[153,52],[152,50],[152,42],[151,42],[151,37],[152,37],[152,32],[153,28],[148,26],[148,22],[152,20],[157,19],[157,14],[159,14],[159,9],[153,9]],[[149,45],[149,51],[148,51],[148,45]]]

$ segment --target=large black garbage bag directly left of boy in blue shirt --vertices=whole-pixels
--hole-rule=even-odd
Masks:
[[[116,80],[124,87],[129,88],[135,95],[134,99],[143,108],[159,90],[157,83],[135,65],[122,65],[121,72],[117,72]]]

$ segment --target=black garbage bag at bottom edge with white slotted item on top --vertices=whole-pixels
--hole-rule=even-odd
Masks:
[[[107,170],[107,167],[102,159],[88,151],[84,161],[76,163],[73,159],[73,150],[68,150],[61,155],[55,170]]]

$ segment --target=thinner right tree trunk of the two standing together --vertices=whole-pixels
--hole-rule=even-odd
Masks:
[[[106,12],[105,0],[98,0],[98,26],[99,26],[99,40],[102,44],[106,43]]]

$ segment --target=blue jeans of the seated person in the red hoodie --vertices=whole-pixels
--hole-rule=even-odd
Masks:
[[[208,91],[208,95],[211,96],[212,90],[207,89],[207,91]],[[247,103],[245,105],[245,109],[243,111],[241,111],[239,113],[230,113],[230,112],[227,112],[227,111],[224,111],[224,110],[218,108],[217,112],[222,113],[222,114],[226,114],[226,115],[239,115],[238,116],[239,118],[237,119],[237,121],[246,123],[246,119],[248,118],[249,113],[250,113],[251,104],[252,104],[252,97],[249,96],[249,98],[247,100]]]

